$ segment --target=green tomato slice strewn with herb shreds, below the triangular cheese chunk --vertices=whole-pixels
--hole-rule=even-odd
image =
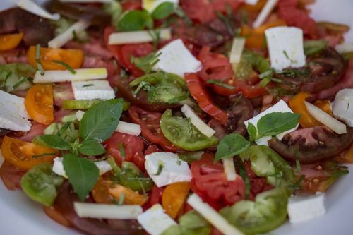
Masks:
[[[189,97],[189,90],[186,82],[180,76],[173,73],[150,73],[142,76],[130,83],[131,87],[136,88],[136,93],[141,88],[148,92],[148,103],[174,104]]]

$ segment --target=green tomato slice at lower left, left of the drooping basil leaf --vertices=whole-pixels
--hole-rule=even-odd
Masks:
[[[52,206],[56,198],[56,189],[64,179],[52,171],[51,163],[32,167],[21,179],[21,188],[32,200],[45,206]]]

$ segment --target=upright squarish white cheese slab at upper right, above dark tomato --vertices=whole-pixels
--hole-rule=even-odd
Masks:
[[[303,30],[296,27],[273,27],[265,30],[271,66],[277,71],[283,68],[299,68],[305,65]]]

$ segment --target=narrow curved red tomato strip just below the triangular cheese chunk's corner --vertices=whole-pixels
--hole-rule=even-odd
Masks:
[[[196,100],[198,106],[210,116],[213,116],[220,123],[225,124],[228,120],[228,115],[222,109],[213,104],[211,97],[201,84],[196,73],[189,73],[185,76],[186,83],[193,99]]]

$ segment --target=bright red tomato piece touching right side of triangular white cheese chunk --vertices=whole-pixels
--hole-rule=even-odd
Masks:
[[[198,75],[205,81],[213,80],[227,80],[233,77],[233,68],[229,63],[229,59],[217,53],[210,52],[210,47],[203,47],[198,55],[203,64]]]

